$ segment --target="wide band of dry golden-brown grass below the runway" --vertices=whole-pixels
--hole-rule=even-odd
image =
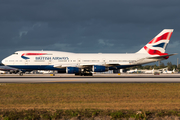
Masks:
[[[180,83],[0,85],[0,109],[172,110],[179,107]]]

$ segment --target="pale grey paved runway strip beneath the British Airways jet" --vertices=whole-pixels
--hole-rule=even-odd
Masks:
[[[180,83],[180,74],[97,74],[74,76],[67,74],[0,75],[0,83]]]

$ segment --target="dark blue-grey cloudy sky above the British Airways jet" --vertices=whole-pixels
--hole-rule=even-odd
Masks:
[[[165,28],[166,52],[180,53],[180,0],[1,0],[0,60],[19,50],[132,53]]]

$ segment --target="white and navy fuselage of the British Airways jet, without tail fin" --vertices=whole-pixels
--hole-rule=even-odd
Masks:
[[[36,55],[40,53],[43,55]],[[148,54],[83,54],[58,51],[17,51],[5,58],[2,63],[18,69],[39,69],[55,70],[70,67],[80,67],[86,65],[104,65],[110,67],[132,66],[157,61],[156,59],[141,58],[149,57]],[[46,66],[46,67],[45,67]],[[51,66],[51,67],[47,67]]]

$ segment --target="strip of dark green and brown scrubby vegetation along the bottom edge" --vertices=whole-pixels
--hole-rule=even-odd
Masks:
[[[85,118],[135,118],[136,120],[146,120],[149,118],[164,118],[165,116],[178,116],[179,110],[174,111],[141,111],[141,114],[137,114],[137,111],[133,110],[98,110],[98,109],[81,109],[81,110],[45,110],[45,109],[31,109],[31,110],[0,110],[0,119],[3,120],[39,120],[39,119],[70,119],[78,117],[81,120]],[[95,114],[94,114],[95,113]],[[167,114],[168,113],[168,114]]]

